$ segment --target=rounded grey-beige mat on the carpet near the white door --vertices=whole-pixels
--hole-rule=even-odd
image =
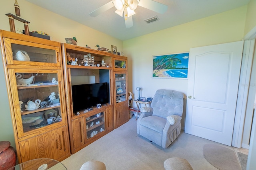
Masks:
[[[242,170],[234,150],[216,144],[204,145],[204,158],[219,170]]]

